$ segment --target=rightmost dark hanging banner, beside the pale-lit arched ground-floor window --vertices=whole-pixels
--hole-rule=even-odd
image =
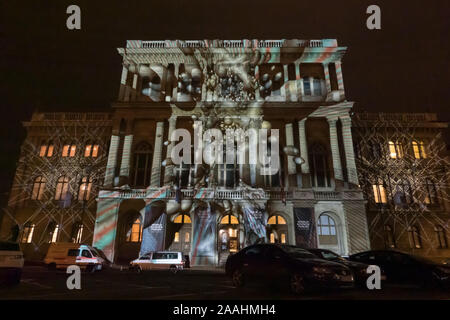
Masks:
[[[294,208],[295,244],[304,248],[316,248],[314,208]]]

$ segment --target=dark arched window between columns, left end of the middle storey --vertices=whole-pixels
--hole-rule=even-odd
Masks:
[[[152,168],[152,148],[146,142],[139,143],[134,149],[131,183],[135,187],[147,187],[150,184]]]

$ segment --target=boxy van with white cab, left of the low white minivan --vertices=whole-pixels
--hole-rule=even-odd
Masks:
[[[102,270],[107,261],[91,246],[70,242],[50,244],[44,263],[49,269],[67,268],[78,265],[87,271]]]

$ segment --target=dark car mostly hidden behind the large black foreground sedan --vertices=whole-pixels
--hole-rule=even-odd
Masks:
[[[314,254],[315,256],[317,256],[319,259],[341,263],[344,266],[350,268],[350,270],[352,270],[353,272],[355,283],[358,284],[359,286],[363,287],[366,286],[367,278],[370,276],[370,274],[367,273],[367,268],[369,267],[368,264],[350,261],[338,255],[337,253],[334,253],[333,251],[327,249],[311,248],[307,250],[312,254]],[[386,280],[386,275],[384,275],[383,273],[381,274],[381,280],[382,281]]]

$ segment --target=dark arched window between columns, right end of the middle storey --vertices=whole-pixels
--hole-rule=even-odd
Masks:
[[[329,187],[328,157],[322,145],[315,144],[309,151],[311,165],[311,182],[313,187]]]

